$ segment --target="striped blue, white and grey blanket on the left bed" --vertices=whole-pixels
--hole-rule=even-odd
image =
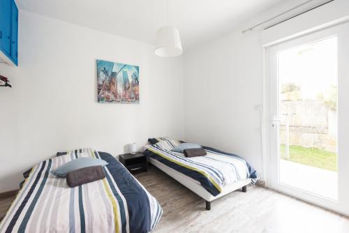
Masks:
[[[66,179],[50,173],[88,156],[107,161],[105,179],[69,188]],[[114,157],[80,149],[33,167],[0,232],[151,232],[162,213],[155,198]]]

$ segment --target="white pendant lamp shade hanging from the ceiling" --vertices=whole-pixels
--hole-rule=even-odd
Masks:
[[[183,52],[179,31],[174,27],[158,29],[156,45],[155,54],[158,57],[177,57]]]

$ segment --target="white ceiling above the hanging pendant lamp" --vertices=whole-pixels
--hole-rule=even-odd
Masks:
[[[186,50],[227,33],[285,0],[168,0],[169,20],[179,29]],[[166,0],[17,0],[22,10],[91,29],[155,44],[167,24]]]

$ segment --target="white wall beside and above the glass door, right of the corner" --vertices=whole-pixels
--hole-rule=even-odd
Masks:
[[[184,119],[187,141],[237,153],[246,158],[260,175],[265,175],[260,114],[264,85],[262,45],[271,42],[268,40],[272,38],[276,40],[280,36],[289,36],[286,32],[291,28],[293,33],[296,33],[297,29],[304,30],[304,27],[301,27],[304,24],[309,24],[311,27],[310,23],[315,24],[316,20],[293,23],[292,27],[279,24],[278,27],[270,30],[272,32],[264,35],[261,33],[263,27],[273,24],[275,20],[253,31],[242,33],[242,30],[303,2],[302,0],[285,1],[254,15],[251,20],[240,24],[240,27],[227,35],[186,51]],[[316,0],[312,4],[320,2],[323,1]],[[336,5],[333,6],[333,4]],[[320,11],[318,15],[327,15],[328,20],[333,20],[332,18],[336,16],[343,17],[348,11],[339,10],[341,8],[348,9],[347,0],[337,0],[315,11]],[[333,13],[332,15],[329,15],[329,10]],[[302,11],[302,8],[288,15],[295,15],[299,11]],[[315,15],[315,18],[318,15]],[[303,17],[304,15],[300,17],[301,20]],[[299,17],[295,19],[297,18]],[[290,21],[287,24],[290,24]]]

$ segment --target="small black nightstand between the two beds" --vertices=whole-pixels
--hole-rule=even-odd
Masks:
[[[144,156],[144,154],[140,152],[135,154],[124,153],[119,156],[119,161],[127,168],[129,172],[133,174],[138,172],[147,172],[148,170],[147,156]]]

